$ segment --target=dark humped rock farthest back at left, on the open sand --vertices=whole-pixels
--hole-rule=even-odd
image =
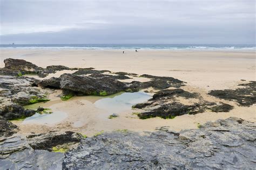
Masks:
[[[43,69],[29,61],[20,59],[5,59],[4,64],[4,68],[24,72],[24,74],[37,74],[39,70]]]

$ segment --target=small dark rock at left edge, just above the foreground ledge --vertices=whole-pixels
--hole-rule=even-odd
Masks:
[[[0,137],[8,137],[17,132],[18,127],[11,123],[10,121],[6,121],[5,118],[0,116]]]

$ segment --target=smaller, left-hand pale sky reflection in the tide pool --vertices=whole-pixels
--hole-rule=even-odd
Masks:
[[[54,124],[68,117],[68,114],[62,111],[55,111],[52,114],[38,114],[25,118],[22,124]]]

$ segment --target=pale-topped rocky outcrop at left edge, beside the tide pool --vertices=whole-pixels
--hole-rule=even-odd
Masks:
[[[21,105],[48,101],[49,90],[35,87],[35,79],[0,76],[0,82],[0,116],[6,119],[32,116],[35,111],[26,110]]]

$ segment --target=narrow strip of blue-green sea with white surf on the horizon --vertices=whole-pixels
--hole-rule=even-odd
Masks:
[[[2,44],[0,48],[255,51],[255,44]]]

